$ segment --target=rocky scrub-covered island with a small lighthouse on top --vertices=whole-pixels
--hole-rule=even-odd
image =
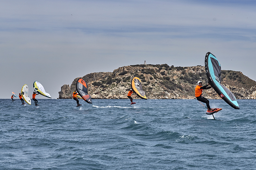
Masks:
[[[255,99],[256,82],[242,72],[221,70],[222,82],[232,91],[236,99]],[[90,73],[77,77],[69,86],[64,84],[59,92],[60,99],[72,98],[76,81],[82,78],[88,83],[88,94],[93,99],[127,99],[131,80],[139,77],[148,99],[195,99],[195,87],[201,80],[208,83],[205,67],[174,67],[167,64],[140,64],[124,66],[113,72]],[[203,90],[208,99],[221,99],[213,88]],[[139,99],[135,94],[133,98]]]

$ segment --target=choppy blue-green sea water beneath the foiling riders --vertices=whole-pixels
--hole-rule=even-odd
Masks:
[[[256,100],[0,99],[0,169],[256,169]]]

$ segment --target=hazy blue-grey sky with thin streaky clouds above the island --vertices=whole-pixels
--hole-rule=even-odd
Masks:
[[[254,0],[0,0],[0,98],[34,81],[52,98],[64,84],[118,67],[204,66],[255,74]],[[36,98],[46,98],[37,95]]]

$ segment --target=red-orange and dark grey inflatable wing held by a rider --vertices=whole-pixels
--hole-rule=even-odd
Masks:
[[[88,85],[83,79],[78,79],[76,82],[76,91],[87,103],[92,103],[92,98],[88,93]]]

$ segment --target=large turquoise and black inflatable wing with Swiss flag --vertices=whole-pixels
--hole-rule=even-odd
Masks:
[[[210,85],[218,95],[231,107],[239,109],[234,94],[221,84],[221,64],[210,52],[205,56],[205,71]]]

